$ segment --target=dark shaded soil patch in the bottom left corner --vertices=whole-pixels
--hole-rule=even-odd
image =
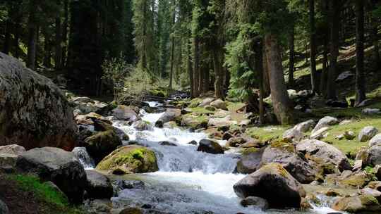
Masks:
[[[39,203],[31,192],[21,191],[16,182],[0,174],[0,199],[11,214],[39,214]]]

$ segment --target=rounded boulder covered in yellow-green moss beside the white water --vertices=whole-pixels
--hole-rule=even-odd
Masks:
[[[97,170],[118,170],[126,173],[156,172],[157,158],[151,149],[143,146],[123,146],[110,153],[98,165]]]

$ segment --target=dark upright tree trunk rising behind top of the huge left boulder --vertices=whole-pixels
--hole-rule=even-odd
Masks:
[[[30,0],[29,3],[29,17],[28,17],[28,60],[27,67],[35,70],[36,61],[36,37],[37,37],[37,27],[36,27],[36,14],[35,14],[35,1]]]

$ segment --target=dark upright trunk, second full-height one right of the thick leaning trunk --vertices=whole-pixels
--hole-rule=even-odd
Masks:
[[[331,44],[329,56],[329,73],[327,81],[327,99],[337,99],[335,80],[337,77],[337,57],[339,56],[339,29],[340,29],[340,3],[339,1],[330,1],[330,28]]]

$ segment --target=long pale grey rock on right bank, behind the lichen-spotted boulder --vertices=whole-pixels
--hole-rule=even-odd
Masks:
[[[305,154],[318,165],[332,165],[339,170],[351,170],[348,158],[336,147],[316,139],[305,139],[296,145],[296,151]]]

